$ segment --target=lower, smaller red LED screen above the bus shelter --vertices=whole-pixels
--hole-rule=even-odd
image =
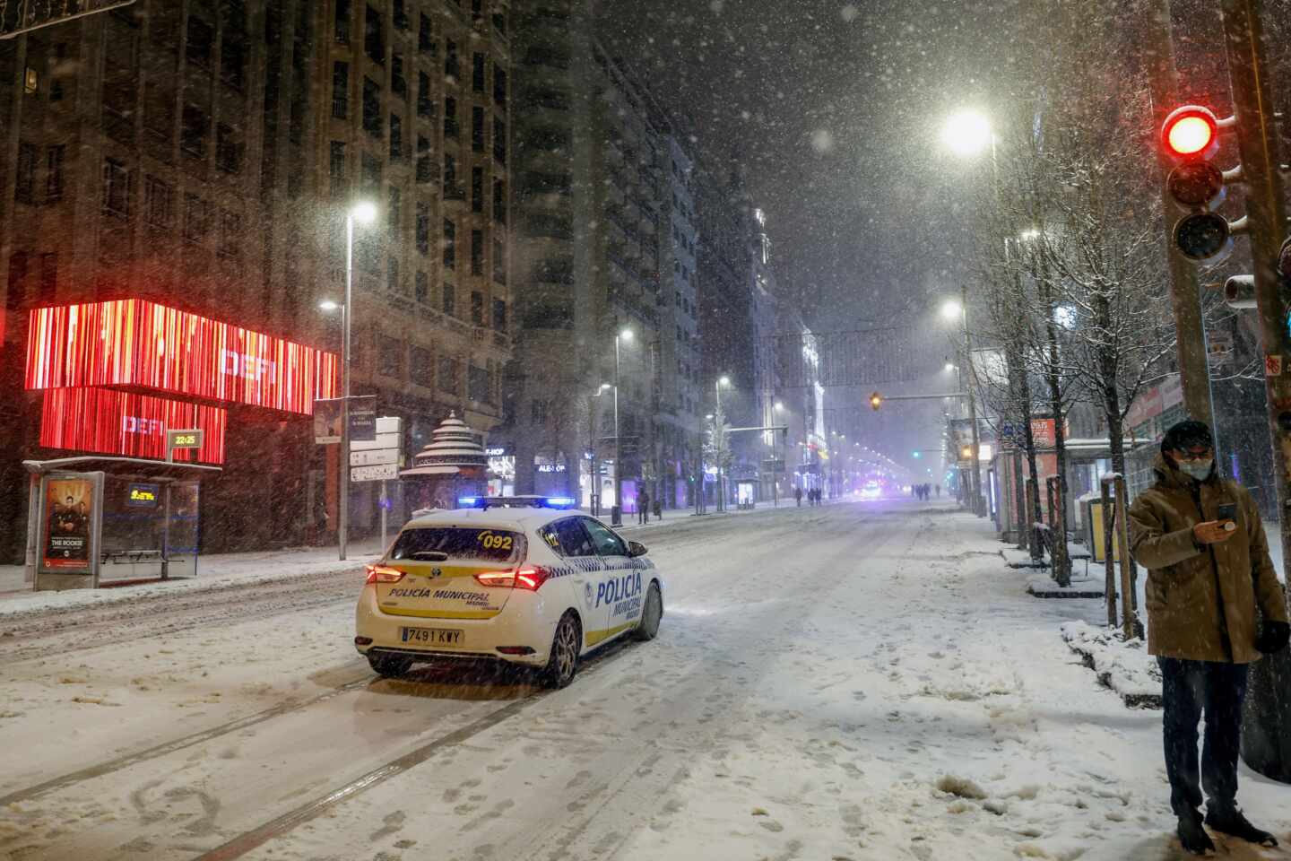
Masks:
[[[165,460],[165,432],[200,427],[196,452],[179,449],[176,461],[225,462],[229,412],[165,398],[111,389],[54,389],[44,394],[40,444],[76,452],[102,452]],[[196,454],[196,457],[194,457]]]

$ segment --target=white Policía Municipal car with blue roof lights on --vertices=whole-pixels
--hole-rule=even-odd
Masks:
[[[492,658],[537,667],[559,688],[590,649],[658,633],[664,582],[642,543],[573,510],[573,500],[460,505],[418,514],[368,565],[354,644],[378,674]]]

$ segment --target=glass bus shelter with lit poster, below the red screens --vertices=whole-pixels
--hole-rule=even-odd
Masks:
[[[23,466],[23,578],[32,589],[198,576],[201,481],[219,475],[218,466],[101,456]]]

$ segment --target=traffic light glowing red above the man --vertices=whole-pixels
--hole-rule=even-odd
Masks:
[[[1175,245],[1198,263],[1214,263],[1233,247],[1233,226],[1215,212],[1229,177],[1211,161],[1219,152],[1219,130],[1226,125],[1232,123],[1199,105],[1175,108],[1161,125],[1162,148],[1175,161],[1166,190],[1188,213],[1175,222]]]

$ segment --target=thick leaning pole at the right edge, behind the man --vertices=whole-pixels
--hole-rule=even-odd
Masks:
[[[1281,512],[1282,554],[1291,559],[1291,334],[1279,289],[1278,252],[1287,227],[1278,173],[1272,86],[1264,62],[1260,0],[1221,0],[1228,68],[1237,115],[1242,176],[1246,182],[1247,235],[1255,268],[1255,301],[1265,354],[1265,392],[1273,439]],[[1255,771],[1291,781],[1291,658],[1286,652],[1255,663],[1243,715],[1242,758]]]

